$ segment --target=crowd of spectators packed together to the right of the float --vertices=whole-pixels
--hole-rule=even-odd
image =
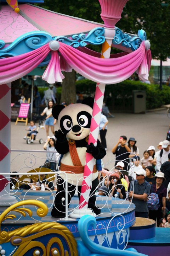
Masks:
[[[126,136],[120,136],[112,149],[115,154],[114,170],[106,169],[100,173],[98,193],[132,201],[136,206],[136,217],[157,220],[157,225],[161,226],[170,211],[170,142],[159,142],[157,152],[154,146],[149,146],[142,159],[136,143],[133,137],[127,143]],[[107,179],[107,182],[101,182],[101,179]],[[156,210],[148,209],[152,193],[159,198]]]

